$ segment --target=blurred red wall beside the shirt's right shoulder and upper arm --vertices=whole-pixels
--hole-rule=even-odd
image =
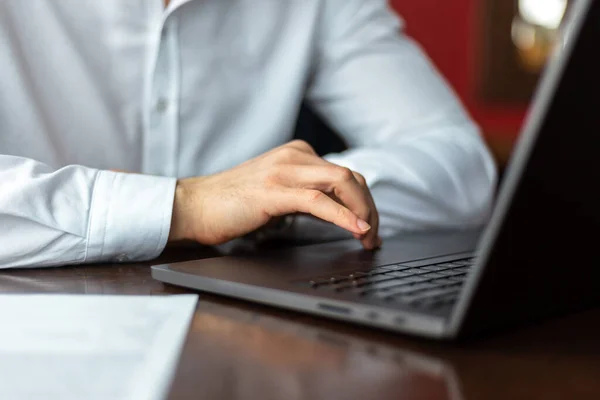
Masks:
[[[390,0],[406,31],[427,51],[481,125],[496,152],[508,151],[526,107],[486,104],[476,95],[482,0]],[[499,157],[505,158],[506,154]]]

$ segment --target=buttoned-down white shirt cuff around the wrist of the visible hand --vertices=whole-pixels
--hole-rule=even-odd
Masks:
[[[175,178],[99,171],[85,261],[158,257],[169,238],[176,183]]]

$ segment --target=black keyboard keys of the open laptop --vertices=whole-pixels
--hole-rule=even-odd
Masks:
[[[474,258],[466,258],[418,267],[393,264],[318,277],[306,283],[315,290],[436,309],[454,305],[474,262]]]

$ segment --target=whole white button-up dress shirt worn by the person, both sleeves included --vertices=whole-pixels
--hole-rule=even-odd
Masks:
[[[494,163],[401,29],[384,0],[0,0],[0,267],[156,257],[176,178],[289,141],[304,99],[384,236],[481,224]]]

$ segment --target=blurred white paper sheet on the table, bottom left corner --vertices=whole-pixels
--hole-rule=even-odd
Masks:
[[[163,399],[196,302],[0,295],[0,399]]]

